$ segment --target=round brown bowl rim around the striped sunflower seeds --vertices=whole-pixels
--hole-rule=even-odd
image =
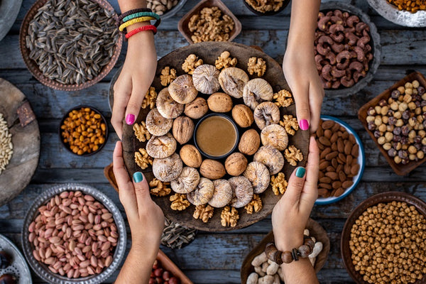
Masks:
[[[101,6],[103,9],[114,11],[114,8],[111,6],[111,4],[109,4],[107,0],[93,1],[97,2],[97,4],[99,4],[99,6]],[[119,40],[116,42],[114,55],[112,55],[111,60],[109,60],[109,63],[105,65],[102,68],[101,72],[99,72],[97,77],[94,77],[92,80],[84,82],[83,84],[61,84],[60,82],[57,82],[55,80],[50,80],[48,77],[45,77],[45,75],[43,75],[43,73],[38,68],[38,65],[35,64],[35,61],[30,59],[30,50],[26,47],[26,35],[28,35],[28,26],[33,20],[35,14],[38,13],[38,9],[40,9],[40,7],[43,6],[46,2],[47,0],[35,1],[35,3],[33,4],[33,6],[31,6],[30,10],[26,13],[25,18],[23,18],[22,21],[21,29],[19,31],[19,48],[21,50],[23,62],[25,63],[26,67],[35,77],[35,79],[37,79],[40,83],[45,84],[46,86],[53,89],[59,89],[62,91],[77,91],[96,84],[108,75],[108,73],[112,70],[117,60],[119,59],[121,47],[123,45],[123,37],[119,36]],[[115,17],[117,18],[116,15]]]

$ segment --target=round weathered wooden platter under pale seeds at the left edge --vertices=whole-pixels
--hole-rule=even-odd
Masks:
[[[1,78],[0,113],[7,121],[13,143],[12,158],[0,174],[1,206],[19,195],[33,177],[40,155],[40,132],[25,95]]]

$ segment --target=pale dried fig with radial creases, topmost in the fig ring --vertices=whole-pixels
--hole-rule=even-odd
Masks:
[[[213,65],[200,65],[192,74],[192,81],[197,91],[203,94],[213,94],[220,89],[219,70]]]

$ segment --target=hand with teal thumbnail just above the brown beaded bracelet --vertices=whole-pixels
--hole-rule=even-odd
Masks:
[[[303,244],[303,231],[318,197],[319,155],[317,142],[311,137],[306,170],[299,167],[293,172],[285,194],[273,209],[273,234],[280,251],[291,251]]]

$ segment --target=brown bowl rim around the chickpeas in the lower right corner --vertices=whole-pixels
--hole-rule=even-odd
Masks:
[[[397,202],[406,202],[410,205],[413,205],[420,214],[423,214],[426,217],[426,203],[415,197],[414,195],[409,195],[405,192],[383,192],[378,195],[373,195],[372,197],[364,200],[359,204],[354,211],[351,212],[346,223],[344,224],[342,231],[342,239],[340,243],[342,259],[346,271],[348,271],[349,275],[352,279],[355,280],[358,284],[368,284],[362,278],[363,276],[355,271],[354,264],[351,259],[351,250],[349,249],[349,240],[351,239],[351,229],[355,224],[356,219],[358,219],[361,214],[366,211],[367,208],[372,207],[378,203],[388,203],[392,201]],[[425,284],[426,283],[426,275],[423,275],[421,280],[417,280],[415,284]]]

